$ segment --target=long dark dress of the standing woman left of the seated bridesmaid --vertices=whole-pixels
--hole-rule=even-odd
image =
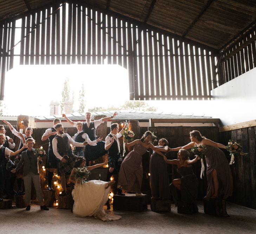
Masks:
[[[157,148],[164,148],[163,146],[156,146]],[[164,154],[164,152],[162,152]],[[149,163],[150,172],[150,188],[152,197],[170,199],[171,193],[169,189],[169,176],[167,171],[167,164],[163,156],[153,151]]]

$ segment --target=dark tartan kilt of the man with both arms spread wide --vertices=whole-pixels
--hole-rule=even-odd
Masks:
[[[105,150],[105,141],[97,142],[97,146],[85,146],[85,159],[86,161],[92,161],[98,159],[105,155],[107,151]]]

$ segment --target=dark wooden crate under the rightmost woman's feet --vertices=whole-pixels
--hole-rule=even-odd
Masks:
[[[222,198],[215,198],[207,201],[204,199],[204,213],[215,216],[229,217],[226,209],[226,200],[223,200]]]

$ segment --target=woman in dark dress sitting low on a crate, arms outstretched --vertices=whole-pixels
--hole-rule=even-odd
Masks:
[[[192,171],[191,165],[199,160],[196,156],[195,159],[189,160],[189,152],[185,149],[180,149],[178,152],[178,159],[167,160],[168,164],[174,164],[177,166],[177,172],[182,176],[181,179],[174,179],[170,184],[173,200],[177,206],[178,195],[177,189],[181,193],[181,201],[191,201],[193,212],[197,213],[197,190],[198,180],[196,175]]]

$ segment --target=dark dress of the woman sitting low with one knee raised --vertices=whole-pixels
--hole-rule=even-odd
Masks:
[[[193,173],[192,167],[180,167],[177,168],[177,172],[182,176],[180,183],[180,193],[182,201],[193,202],[193,212],[198,212],[197,208],[197,191],[198,191],[198,180],[196,175]],[[171,183],[170,189],[172,197],[177,206],[178,195],[177,188]]]

